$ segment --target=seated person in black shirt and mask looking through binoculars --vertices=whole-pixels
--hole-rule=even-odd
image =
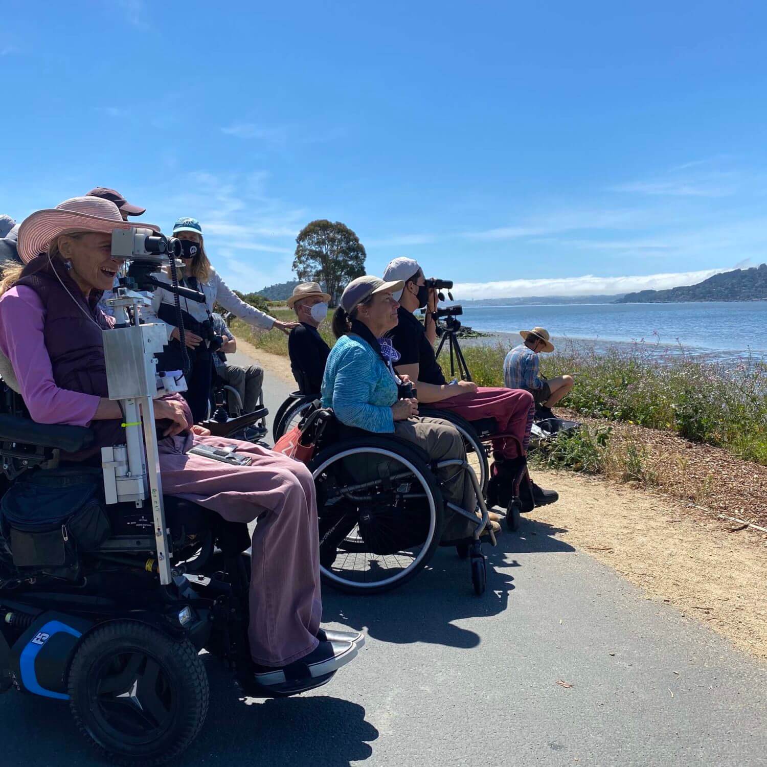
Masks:
[[[434,354],[436,322],[431,313],[436,308],[436,295],[435,291],[426,287],[420,265],[413,258],[394,258],[384,271],[384,279],[404,282],[397,311],[397,327],[388,337],[399,355],[397,360],[393,360],[394,369],[398,374],[410,377],[420,402],[451,410],[468,421],[493,418],[498,423],[498,433],[515,437],[492,441],[495,463],[488,497],[490,501],[497,502],[496,499],[505,497],[505,494],[497,493],[496,486],[508,487],[526,466],[525,455],[530,442],[534,410],[532,396],[519,390],[478,387],[470,381],[451,381],[448,384]],[[425,327],[413,314],[416,309],[423,307],[426,307]],[[531,491],[535,505],[553,503],[559,497],[555,491],[539,488],[535,482],[532,483]],[[532,508],[531,499],[526,500],[525,509],[529,510]]]

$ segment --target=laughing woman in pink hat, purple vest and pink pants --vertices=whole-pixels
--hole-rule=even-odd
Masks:
[[[146,226],[142,224],[142,226]],[[114,229],[131,229],[114,202],[75,197],[21,224],[18,255],[0,283],[0,349],[11,361],[33,420],[89,426],[92,446],[62,461],[100,466],[101,448],[125,443],[120,403],[108,398],[98,309],[123,260],[111,255]],[[156,227],[154,227],[156,230]],[[329,673],[351,660],[351,644],[328,641],[322,605],[314,481],[271,450],[209,436],[193,426],[178,395],[154,400],[163,492],[182,495],[231,522],[258,525],[252,536],[249,640],[255,679],[277,685]],[[189,454],[195,444],[236,446],[252,458],[232,466]],[[351,656],[351,657],[349,657]]]

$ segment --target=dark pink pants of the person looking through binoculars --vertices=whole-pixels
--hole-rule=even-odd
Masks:
[[[535,413],[535,403],[528,391],[479,387],[473,394],[459,394],[457,397],[429,403],[429,407],[450,410],[469,422],[480,418],[495,418],[499,433],[512,434],[515,439],[493,439],[492,449],[504,458],[516,458],[520,445],[522,454],[527,453]]]

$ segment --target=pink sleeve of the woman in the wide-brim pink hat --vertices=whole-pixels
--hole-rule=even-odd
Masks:
[[[56,386],[44,322],[45,307],[31,288],[19,285],[0,296],[0,349],[11,360],[32,420],[88,426],[100,397]]]

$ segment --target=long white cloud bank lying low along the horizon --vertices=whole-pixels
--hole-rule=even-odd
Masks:
[[[640,290],[664,290],[679,285],[695,285],[729,269],[705,269],[701,272],[664,272],[657,275],[571,278],[535,280],[502,280],[492,282],[460,282],[453,287],[456,301],[470,298],[525,298],[548,295],[616,295]]]

